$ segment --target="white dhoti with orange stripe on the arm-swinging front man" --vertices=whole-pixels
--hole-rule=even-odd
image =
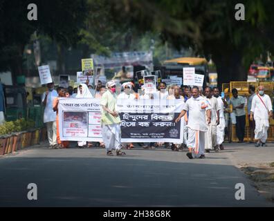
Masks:
[[[192,148],[192,157],[199,158],[205,153],[205,132],[188,128],[188,148]]]

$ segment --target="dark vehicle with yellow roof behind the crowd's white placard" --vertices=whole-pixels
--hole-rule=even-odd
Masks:
[[[209,83],[208,75],[208,61],[201,57],[179,57],[176,59],[170,59],[163,61],[161,67],[154,67],[154,70],[161,70],[162,78],[168,76],[183,77],[183,68],[194,67],[195,73],[199,75],[205,75],[204,85]]]

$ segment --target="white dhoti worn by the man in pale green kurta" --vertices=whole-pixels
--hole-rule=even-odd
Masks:
[[[121,148],[121,128],[119,124],[102,125],[102,139],[106,151],[115,149],[116,151]]]

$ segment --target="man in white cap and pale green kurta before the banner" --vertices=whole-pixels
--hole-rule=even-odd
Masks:
[[[106,147],[107,155],[112,156],[112,149],[116,150],[116,155],[125,155],[121,149],[121,128],[120,117],[116,104],[116,82],[109,81],[106,84],[107,91],[102,95],[102,139]]]

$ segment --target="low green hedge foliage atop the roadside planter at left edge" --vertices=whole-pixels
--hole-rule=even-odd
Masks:
[[[35,128],[35,122],[33,120],[26,121],[26,119],[21,118],[13,122],[5,122],[4,124],[0,125],[0,135],[27,131],[33,128]]]

